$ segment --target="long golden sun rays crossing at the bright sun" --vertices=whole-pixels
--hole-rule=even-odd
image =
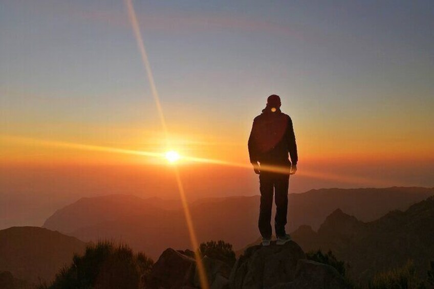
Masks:
[[[146,72],[147,81],[149,82],[150,91],[156,104],[157,113],[162,127],[161,134],[164,133],[164,137],[165,137],[164,152],[142,151],[142,150],[125,149],[125,148],[118,148],[118,147],[89,145],[89,144],[80,144],[80,143],[71,143],[71,142],[62,142],[62,141],[39,140],[39,139],[32,139],[32,138],[13,137],[13,136],[0,136],[0,138],[5,139],[8,142],[15,142],[26,146],[45,146],[45,147],[52,147],[52,148],[75,149],[75,150],[83,150],[83,151],[95,151],[95,152],[99,151],[104,153],[129,154],[129,155],[137,155],[139,157],[156,158],[158,160],[164,160],[164,161],[167,160],[169,163],[172,163],[173,164],[172,168],[176,179],[177,188],[180,194],[181,203],[184,211],[185,222],[187,224],[191,247],[194,251],[195,259],[197,262],[197,270],[200,277],[201,287],[204,289],[208,289],[209,284],[207,280],[207,274],[205,272],[205,268],[202,262],[202,258],[200,256],[200,252],[198,251],[199,241],[197,237],[197,232],[194,229],[194,221],[188,206],[186,192],[181,178],[181,172],[180,172],[181,169],[178,166],[178,163],[192,162],[192,163],[202,163],[207,165],[235,167],[235,168],[251,170],[251,173],[253,174],[252,165],[248,162],[239,163],[239,162],[231,162],[225,160],[199,158],[199,157],[194,157],[189,155],[182,155],[181,157],[181,155],[179,155],[176,151],[169,150],[172,148],[171,147],[172,141],[169,136],[165,115],[163,113],[162,104],[155,83],[154,75],[149,63],[148,55],[140,31],[140,26],[138,23],[136,12],[134,10],[132,0],[124,0],[124,3],[126,6],[129,22],[131,23],[132,26],[133,34],[137,42],[137,47],[140,53],[141,62]],[[212,142],[207,144],[215,145]],[[290,168],[288,166],[262,165],[261,170],[275,172],[275,173],[289,173]],[[319,171],[319,172],[300,170],[299,172],[297,172],[297,175],[304,176],[304,177],[311,177],[315,179],[323,179],[328,181],[333,180],[333,181],[344,182],[344,183],[358,182],[358,183],[372,184],[374,181],[377,181],[377,180],[367,179],[363,177],[337,175],[337,174],[329,173],[327,169],[324,169],[323,171]]]

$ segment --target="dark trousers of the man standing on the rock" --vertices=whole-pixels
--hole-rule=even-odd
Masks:
[[[276,202],[274,230],[276,236],[285,236],[285,225],[288,214],[289,174],[261,172],[259,174],[261,190],[261,207],[259,208],[259,232],[264,238],[271,238],[271,208],[273,207],[273,191]]]

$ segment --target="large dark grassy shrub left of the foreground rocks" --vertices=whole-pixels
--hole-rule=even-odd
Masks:
[[[86,247],[83,256],[74,255],[72,264],[60,270],[51,285],[39,288],[137,289],[141,277],[146,278],[153,263],[143,253],[134,254],[126,244],[98,242]]]

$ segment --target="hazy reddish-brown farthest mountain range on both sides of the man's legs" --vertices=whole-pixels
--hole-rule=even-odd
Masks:
[[[309,225],[316,230],[338,208],[362,221],[372,221],[389,211],[405,210],[430,195],[434,195],[434,188],[320,189],[290,194],[287,229]],[[259,196],[205,198],[189,208],[200,242],[223,239],[234,248],[242,248],[259,235]],[[44,227],[84,241],[122,240],[153,258],[168,247],[190,247],[181,204],[159,198],[81,198],[56,211]]]

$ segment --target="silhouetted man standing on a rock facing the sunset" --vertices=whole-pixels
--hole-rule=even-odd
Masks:
[[[262,114],[253,120],[249,137],[250,163],[259,174],[261,207],[259,209],[259,232],[263,246],[271,242],[271,208],[273,191],[276,202],[274,229],[276,244],[291,240],[285,232],[288,213],[289,175],[297,171],[297,144],[291,118],[280,111],[280,97],[270,95]],[[291,161],[288,159],[288,153]]]

